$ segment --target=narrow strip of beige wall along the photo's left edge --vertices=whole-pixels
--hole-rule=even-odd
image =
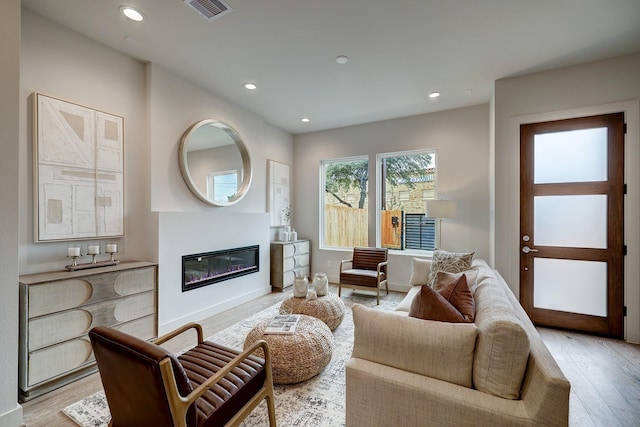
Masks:
[[[18,405],[20,0],[0,2],[0,426],[22,422]]]

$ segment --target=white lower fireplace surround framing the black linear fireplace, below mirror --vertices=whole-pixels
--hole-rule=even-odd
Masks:
[[[260,271],[182,292],[182,255],[252,245],[260,245]],[[158,263],[160,335],[268,294],[269,214],[159,212]]]

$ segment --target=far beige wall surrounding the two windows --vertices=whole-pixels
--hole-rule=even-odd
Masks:
[[[489,105],[405,117],[297,135],[294,144],[293,226],[309,238],[311,268],[337,281],[339,263],[350,252],[319,250],[320,161],[369,156],[369,236],[375,236],[375,159],[377,153],[438,150],[438,197],[458,202],[458,216],[442,222],[444,249],[475,251],[489,259]],[[375,237],[373,237],[375,239]],[[374,245],[375,241],[371,241]],[[413,255],[415,256],[415,254]],[[407,289],[411,257],[390,255],[390,287]]]

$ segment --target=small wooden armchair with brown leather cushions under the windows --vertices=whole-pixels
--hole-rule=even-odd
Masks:
[[[353,248],[353,257],[340,262],[340,281],[338,283],[338,296],[342,294],[342,288],[377,291],[378,304],[380,304],[380,288],[382,285],[389,295],[387,282],[387,257],[386,248]],[[346,268],[351,264],[351,268]]]

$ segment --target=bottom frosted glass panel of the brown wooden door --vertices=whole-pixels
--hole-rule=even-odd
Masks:
[[[607,316],[607,264],[534,259],[533,305],[592,316]]]

